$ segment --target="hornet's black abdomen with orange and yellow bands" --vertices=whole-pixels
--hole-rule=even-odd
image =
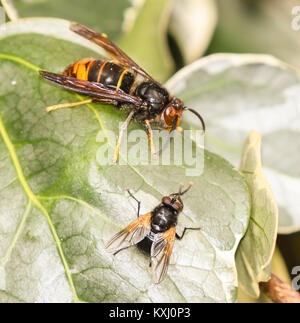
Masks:
[[[107,60],[86,58],[68,66],[64,75],[80,80],[97,82],[105,87],[130,93],[134,83],[134,75],[122,66]]]

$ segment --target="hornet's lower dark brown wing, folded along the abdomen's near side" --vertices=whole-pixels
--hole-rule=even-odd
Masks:
[[[40,75],[67,90],[88,95],[98,99],[114,100],[117,102],[131,103],[140,106],[142,100],[138,97],[126,94],[122,90],[118,92],[102,86],[100,83],[79,80],[74,77],[40,71]]]

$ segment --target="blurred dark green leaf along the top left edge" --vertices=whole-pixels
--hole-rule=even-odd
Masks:
[[[130,0],[2,0],[11,20],[28,17],[54,17],[89,26],[111,39],[120,36],[126,12],[138,10]]]

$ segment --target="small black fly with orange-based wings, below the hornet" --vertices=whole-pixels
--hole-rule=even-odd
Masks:
[[[183,191],[184,185],[181,184],[178,193],[164,196],[152,212],[142,216],[140,216],[141,202],[127,189],[129,195],[138,204],[137,220],[113,236],[106,245],[107,251],[115,255],[123,249],[136,245],[150,256],[154,282],[160,283],[168,271],[175,238],[181,240],[187,230],[201,229],[184,228],[181,236],[175,230],[178,215],[183,209],[181,196],[188,192],[192,185],[191,182]]]

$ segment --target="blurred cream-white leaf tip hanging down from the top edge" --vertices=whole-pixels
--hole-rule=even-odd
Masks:
[[[170,33],[189,64],[207,49],[217,23],[213,0],[174,0],[170,17]]]

